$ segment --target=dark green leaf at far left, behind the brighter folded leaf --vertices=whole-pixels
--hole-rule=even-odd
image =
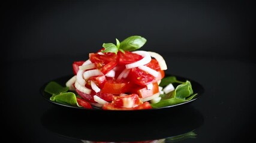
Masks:
[[[46,87],[44,88],[44,91],[52,95],[58,95],[58,94],[67,92],[68,89],[69,89],[68,87],[63,87],[59,85],[59,83],[52,81],[46,85]]]

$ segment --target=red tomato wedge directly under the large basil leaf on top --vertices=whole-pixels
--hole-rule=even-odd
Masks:
[[[141,55],[135,54],[133,52],[125,51],[125,53],[118,52],[118,63],[119,64],[129,64],[135,61],[141,60],[143,57]]]

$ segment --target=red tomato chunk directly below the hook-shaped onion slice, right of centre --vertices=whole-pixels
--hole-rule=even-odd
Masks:
[[[147,85],[149,83],[152,83],[153,80],[156,79],[151,74],[146,73],[145,71],[140,70],[137,67],[132,68],[129,71],[128,78],[131,80],[132,83],[135,83],[137,85]]]

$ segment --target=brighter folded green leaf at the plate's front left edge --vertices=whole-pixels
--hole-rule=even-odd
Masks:
[[[65,92],[63,94],[55,95],[54,97],[50,97],[50,100],[60,104],[77,106],[76,94],[73,92]]]

